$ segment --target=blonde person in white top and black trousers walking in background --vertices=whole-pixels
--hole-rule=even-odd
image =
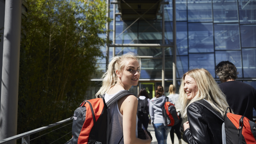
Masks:
[[[179,139],[179,144],[181,144],[180,124],[182,122],[182,119],[181,119],[181,115],[180,115],[180,105],[178,104],[179,95],[175,92],[176,92],[176,87],[171,84],[169,86],[169,95],[167,97],[169,98],[169,101],[175,105],[177,115],[179,116],[180,121],[178,124],[172,126],[172,129],[170,131],[170,137],[172,140],[172,144],[174,144],[174,131],[175,131],[175,133]]]

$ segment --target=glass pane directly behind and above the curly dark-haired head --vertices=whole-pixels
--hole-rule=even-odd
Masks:
[[[230,61],[239,72],[238,78],[243,78],[241,51],[215,51],[215,60],[216,65],[221,61]]]

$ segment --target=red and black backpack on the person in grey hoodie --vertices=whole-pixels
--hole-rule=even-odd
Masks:
[[[162,112],[163,112],[163,119],[167,126],[172,127],[179,123],[180,118],[177,115],[176,108],[174,104],[169,102],[168,97],[166,97],[166,102],[164,104],[164,107],[162,108]]]

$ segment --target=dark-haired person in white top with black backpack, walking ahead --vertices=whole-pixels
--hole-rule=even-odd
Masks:
[[[137,110],[137,116],[138,116],[138,127],[143,127],[144,130],[148,129],[148,106],[150,103],[150,99],[148,98],[148,92],[146,89],[142,88],[140,89],[138,98],[138,110]]]

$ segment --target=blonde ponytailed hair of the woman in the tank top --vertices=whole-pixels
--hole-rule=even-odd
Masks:
[[[108,89],[110,89],[112,86],[114,86],[117,82],[117,75],[116,70],[121,72],[125,66],[125,62],[127,59],[133,59],[137,60],[140,67],[141,67],[141,61],[137,54],[133,52],[128,52],[122,56],[115,56],[112,58],[111,62],[108,64],[108,70],[105,72],[105,74],[102,76],[102,87],[99,89],[99,91],[96,93],[97,95],[103,95],[105,92],[107,92]]]

